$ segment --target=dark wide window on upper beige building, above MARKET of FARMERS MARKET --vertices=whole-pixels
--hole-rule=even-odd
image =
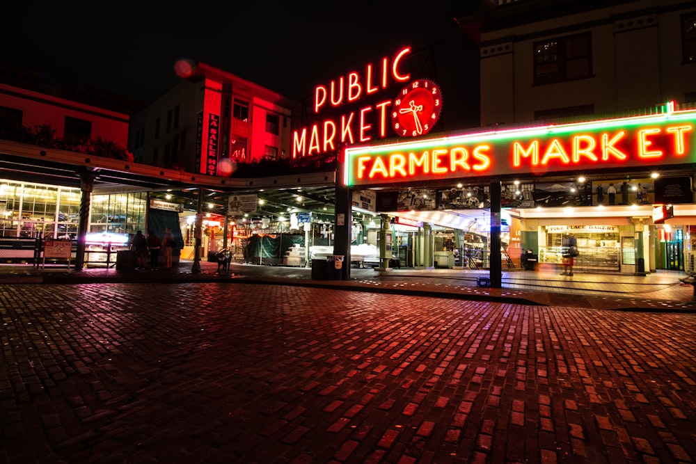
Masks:
[[[592,35],[583,33],[534,44],[534,85],[592,77]]]

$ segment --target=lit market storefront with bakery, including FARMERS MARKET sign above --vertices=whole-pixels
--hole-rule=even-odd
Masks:
[[[667,104],[635,118],[349,147],[343,178],[372,192],[377,214],[417,225],[414,266],[494,273],[530,253],[553,268],[572,232],[578,270],[690,271],[695,125],[696,111]],[[654,219],[663,207],[670,217]]]

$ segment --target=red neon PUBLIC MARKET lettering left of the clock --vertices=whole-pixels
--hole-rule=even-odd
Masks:
[[[382,58],[380,65],[371,63],[363,74],[349,72],[319,85],[314,92],[314,112],[336,109],[354,104],[359,100],[384,90],[392,83],[403,84],[411,79],[411,74],[402,70],[402,61],[411,54],[411,47],[401,49],[391,60]],[[358,111],[329,118],[310,127],[303,127],[292,134],[292,157],[307,157],[336,150],[342,143],[366,143],[372,141],[376,132],[379,138],[388,134],[390,127],[389,109],[391,99],[363,106]]]

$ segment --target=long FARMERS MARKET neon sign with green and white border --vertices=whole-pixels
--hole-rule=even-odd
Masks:
[[[348,186],[696,162],[696,111],[345,150]]]

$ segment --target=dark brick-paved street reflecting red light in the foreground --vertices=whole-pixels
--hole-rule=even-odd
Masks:
[[[0,285],[7,463],[690,463],[695,314]]]

